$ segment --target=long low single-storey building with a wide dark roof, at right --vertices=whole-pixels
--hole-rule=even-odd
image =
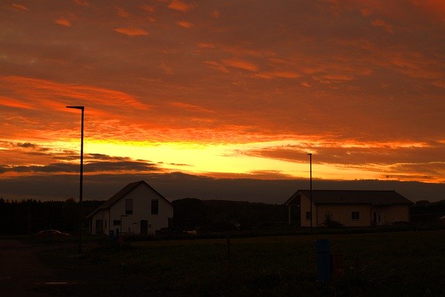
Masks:
[[[311,216],[312,200],[312,216]],[[300,211],[303,227],[321,227],[330,218],[346,227],[390,225],[410,221],[412,202],[396,191],[298,190],[284,202],[289,223]]]

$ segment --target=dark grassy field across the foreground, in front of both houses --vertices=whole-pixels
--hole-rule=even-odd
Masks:
[[[344,275],[316,281],[316,239],[343,255]],[[445,296],[445,231],[147,241],[41,256],[76,285],[44,293],[95,296]],[[229,253],[229,259],[227,257]],[[228,261],[229,260],[229,261]]]

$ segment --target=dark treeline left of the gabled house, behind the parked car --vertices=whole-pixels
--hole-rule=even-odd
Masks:
[[[103,201],[83,201],[83,216],[99,207]],[[79,202],[65,201],[4,200],[0,198],[0,234],[35,234],[41,230],[55,229],[78,233]],[[83,220],[83,227],[88,221]]]

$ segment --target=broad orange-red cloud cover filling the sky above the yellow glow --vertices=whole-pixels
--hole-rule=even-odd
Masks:
[[[444,12],[443,1],[337,1],[337,15],[316,1],[273,13],[264,3],[236,1],[200,9],[191,0],[90,1],[88,8],[81,0],[51,8],[23,2],[33,10],[26,19],[28,8],[17,4],[22,13],[15,13],[6,4],[14,32],[4,36],[1,71],[22,78],[0,77],[3,137],[65,137],[64,127],[74,125],[66,117],[77,115],[56,111],[85,104],[90,137],[116,141],[149,135],[160,142],[253,143],[300,140],[310,132],[335,139],[332,147],[339,148],[346,138],[444,139],[444,28],[433,15]],[[53,42],[51,32],[31,28],[48,20],[54,30],[62,29],[54,23],[85,26],[70,30],[66,42]],[[388,39],[387,32],[398,31]],[[290,110],[301,115],[298,121]],[[51,117],[42,115],[47,111]],[[318,148],[331,163],[385,161],[379,147]],[[402,150],[382,152],[400,156]],[[413,152],[399,160],[414,159]],[[259,157],[294,152],[268,153]],[[443,159],[434,154],[430,161]]]

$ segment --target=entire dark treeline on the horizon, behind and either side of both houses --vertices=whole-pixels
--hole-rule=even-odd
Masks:
[[[83,216],[104,201],[83,201]],[[280,204],[246,201],[179,199],[175,207],[173,227],[176,230],[213,232],[230,230],[268,229],[287,224],[288,207]],[[412,223],[437,223],[445,216],[445,200],[418,201],[410,209]],[[0,198],[0,234],[35,234],[45,229],[56,229],[76,234],[79,228],[79,203],[65,201],[4,200]],[[88,232],[88,220],[83,220]]]

